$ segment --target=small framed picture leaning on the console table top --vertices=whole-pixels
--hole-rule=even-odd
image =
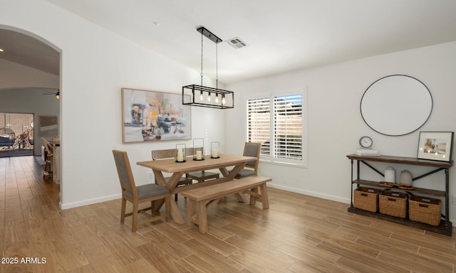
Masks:
[[[418,159],[451,161],[454,132],[420,132]]]

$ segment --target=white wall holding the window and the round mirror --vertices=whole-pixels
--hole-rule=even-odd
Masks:
[[[235,104],[239,106],[229,110],[229,119],[245,120],[247,95],[286,93],[296,90],[296,87],[308,87],[308,168],[261,162],[259,171],[261,175],[273,178],[271,186],[349,203],[351,164],[346,155],[353,154],[358,147],[359,137],[371,136],[374,148],[382,154],[416,157],[420,131],[456,132],[455,71],[454,42],[264,77],[227,86],[228,90],[235,92]],[[361,97],[366,88],[380,77],[394,74],[418,78],[427,86],[433,98],[432,114],[426,124],[417,132],[401,137],[388,137],[374,132],[363,121],[360,113]],[[243,110],[240,111],[239,108]],[[242,133],[239,134],[239,131]],[[241,152],[245,132],[244,124],[227,122],[227,138],[230,139],[227,149]],[[452,154],[455,158],[455,152]],[[379,165],[380,171],[385,167]],[[396,175],[399,176],[405,168],[414,176],[424,173],[423,168],[395,166]],[[454,173],[450,169],[450,199],[456,194]],[[362,177],[381,181],[381,177],[368,171]],[[443,189],[443,172],[416,181],[416,185]],[[452,205],[451,200],[450,220],[456,223],[456,205]]]

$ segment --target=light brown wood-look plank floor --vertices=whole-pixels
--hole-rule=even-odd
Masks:
[[[354,215],[344,203],[269,188],[269,210],[221,200],[207,234],[172,221],[132,233],[120,200],[59,210],[42,173],[33,156],[0,159],[1,272],[456,272],[455,231]]]

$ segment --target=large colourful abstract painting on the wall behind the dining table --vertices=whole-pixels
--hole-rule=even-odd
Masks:
[[[122,142],[191,139],[190,106],[182,95],[122,88]]]

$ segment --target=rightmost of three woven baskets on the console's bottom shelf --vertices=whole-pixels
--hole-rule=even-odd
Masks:
[[[408,218],[415,222],[440,225],[441,207],[439,199],[412,196],[408,200]]]

